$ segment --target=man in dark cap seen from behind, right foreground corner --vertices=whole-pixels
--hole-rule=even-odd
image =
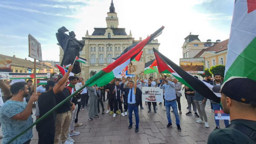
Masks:
[[[221,93],[224,113],[230,115],[231,124],[215,129],[208,144],[255,144],[256,143],[256,81],[245,77],[230,77],[222,86],[214,86]]]

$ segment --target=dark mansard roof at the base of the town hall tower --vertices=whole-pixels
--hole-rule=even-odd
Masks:
[[[91,35],[104,35],[108,28],[94,28],[94,32]],[[110,28],[113,30],[114,35],[127,35],[125,28]]]

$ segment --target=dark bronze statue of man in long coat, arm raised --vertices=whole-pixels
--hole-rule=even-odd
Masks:
[[[69,32],[69,35],[65,33],[67,31],[69,30],[65,27],[61,27],[56,33],[56,38],[64,51],[61,66],[73,64],[76,56],[79,56],[79,52],[82,51],[84,47],[84,43],[75,39],[75,33],[73,31]],[[75,61],[72,72],[74,74],[81,72],[80,64],[78,61]]]

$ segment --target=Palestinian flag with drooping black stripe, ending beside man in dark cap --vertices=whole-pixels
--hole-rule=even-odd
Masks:
[[[175,64],[167,57],[159,53],[155,48],[153,48],[153,51],[156,57],[156,63],[159,73],[170,73],[175,78],[177,78],[177,80],[179,80],[181,83],[183,83],[189,88],[196,90],[205,98],[211,99],[218,103],[221,102],[221,99],[217,97],[215,93],[212,91],[212,85],[200,81],[196,77],[190,75],[189,73],[181,69],[181,67],[179,67],[177,64]]]

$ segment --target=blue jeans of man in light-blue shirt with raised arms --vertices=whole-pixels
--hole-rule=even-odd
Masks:
[[[171,120],[171,115],[170,115],[170,110],[173,110],[173,113],[175,115],[175,119],[176,119],[176,125],[180,125],[180,117],[179,117],[179,113],[178,113],[178,107],[177,107],[177,101],[167,101],[165,100],[165,109],[166,109],[166,116],[168,119],[168,123],[172,123]]]

